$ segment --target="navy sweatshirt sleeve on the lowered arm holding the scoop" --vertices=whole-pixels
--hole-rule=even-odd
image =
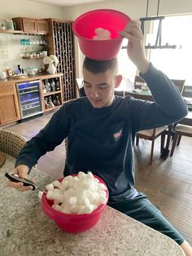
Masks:
[[[26,143],[16,158],[15,166],[28,166],[30,171],[37,164],[38,159],[46,152],[62,143],[68,134],[68,123],[65,115],[65,106],[59,108],[40,132]]]

